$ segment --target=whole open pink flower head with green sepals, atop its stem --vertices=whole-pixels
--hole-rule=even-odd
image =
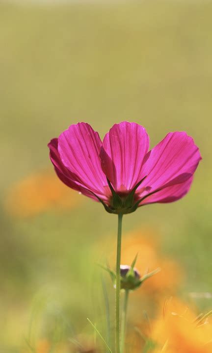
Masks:
[[[149,151],[145,128],[129,122],[112,126],[103,142],[89,124],[71,125],[48,146],[57,176],[111,213],[181,199],[201,160],[185,132],[168,133]]]

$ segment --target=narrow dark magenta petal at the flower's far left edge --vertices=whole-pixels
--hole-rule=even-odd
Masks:
[[[74,180],[74,175],[63,165],[60,155],[58,153],[58,139],[54,138],[48,144],[50,149],[50,159],[53,163],[55,172],[59,179],[66,184],[68,187],[81,192],[83,195],[88,196],[97,201],[95,196],[93,196],[90,192],[85,190],[81,185]]]

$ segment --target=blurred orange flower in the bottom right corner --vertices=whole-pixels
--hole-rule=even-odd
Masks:
[[[166,301],[152,328],[155,352],[211,353],[212,326],[177,299]]]

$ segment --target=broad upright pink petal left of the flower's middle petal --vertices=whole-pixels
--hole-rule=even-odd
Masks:
[[[102,198],[107,198],[108,185],[101,162],[102,142],[89,124],[71,125],[58,138],[58,152],[63,165],[76,181]]]

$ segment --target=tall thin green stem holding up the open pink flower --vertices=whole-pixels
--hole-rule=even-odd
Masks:
[[[118,237],[116,254],[116,353],[120,353],[120,265],[121,265],[121,234],[123,214],[118,214]]]

